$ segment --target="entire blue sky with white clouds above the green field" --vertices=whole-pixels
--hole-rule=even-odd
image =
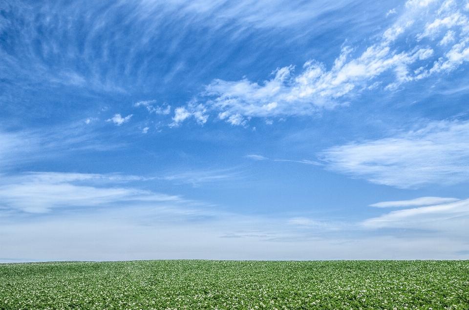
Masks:
[[[0,2],[0,262],[469,259],[469,1]]]

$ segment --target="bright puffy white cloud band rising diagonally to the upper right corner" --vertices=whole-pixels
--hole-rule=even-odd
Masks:
[[[251,117],[311,115],[346,104],[366,89],[395,90],[450,72],[469,60],[468,42],[465,3],[409,0],[401,17],[358,57],[352,56],[355,48],[345,46],[331,69],[311,60],[298,75],[290,65],[277,68],[263,83],[215,79],[200,100],[209,98],[207,111],[232,125],[246,125]],[[392,81],[380,86],[389,77]]]

